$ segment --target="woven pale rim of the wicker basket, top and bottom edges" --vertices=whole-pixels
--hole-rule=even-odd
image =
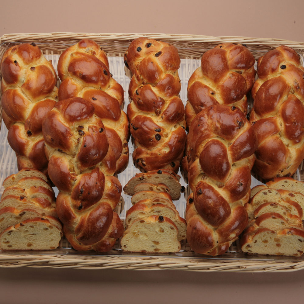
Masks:
[[[263,45],[277,47],[288,45],[300,52],[304,52],[304,42],[296,42],[277,38],[253,38],[245,36],[204,36],[187,34],[163,33],[12,33],[0,37],[0,47],[5,43],[45,40],[68,39],[96,39],[97,41],[129,41],[137,37],[167,40],[180,43],[245,43],[251,46]],[[0,105],[1,112],[1,105]],[[1,126],[1,121],[0,121]],[[88,255],[62,255],[62,254],[1,254],[0,268],[17,267],[40,268],[79,268],[79,269],[136,269],[136,270],[161,270],[178,269],[188,271],[228,271],[228,272],[285,272],[304,269],[304,259],[294,261],[284,260],[228,260],[172,257],[144,257],[144,256],[88,256]]]

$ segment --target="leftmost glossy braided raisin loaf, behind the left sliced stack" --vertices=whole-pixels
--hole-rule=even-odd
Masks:
[[[46,173],[41,124],[57,101],[57,76],[35,43],[9,48],[1,60],[3,121],[18,169]]]

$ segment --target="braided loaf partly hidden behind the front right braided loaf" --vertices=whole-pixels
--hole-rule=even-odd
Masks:
[[[234,105],[247,114],[246,94],[256,71],[254,57],[241,44],[222,43],[203,54],[201,66],[188,81],[187,126],[209,105]]]

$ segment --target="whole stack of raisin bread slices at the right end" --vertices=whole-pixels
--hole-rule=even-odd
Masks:
[[[304,183],[275,178],[252,189],[245,204],[249,216],[240,240],[250,254],[301,256],[304,252]]]

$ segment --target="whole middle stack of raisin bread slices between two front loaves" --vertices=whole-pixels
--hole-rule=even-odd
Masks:
[[[181,250],[186,222],[172,199],[181,195],[180,176],[168,170],[138,173],[124,187],[132,195],[126,212],[126,231],[120,241],[124,251],[165,253]]]

